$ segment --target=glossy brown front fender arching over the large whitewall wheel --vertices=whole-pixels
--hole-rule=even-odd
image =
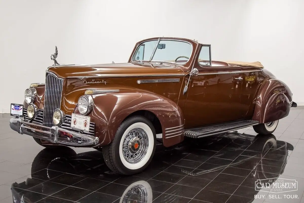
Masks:
[[[109,144],[123,120],[138,110],[150,111],[159,119],[164,146],[178,144],[184,139],[182,111],[175,102],[166,97],[139,90],[121,90],[92,97],[94,107],[90,116],[91,121],[95,123],[95,135],[101,146]],[[180,133],[171,136],[173,134],[168,131],[176,129],[179,129]]]

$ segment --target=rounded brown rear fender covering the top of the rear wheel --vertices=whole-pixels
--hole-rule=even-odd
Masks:
[[[290,102],[292,93],[288,86],[278,79],[269,79],[257,95],[252,119],[260,123],[282,119],[289,114]]]

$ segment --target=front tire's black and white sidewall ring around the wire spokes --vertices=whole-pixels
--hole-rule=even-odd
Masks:
[[[148,137],[149,137],[149,142],[148,142],[148,151],[150,151],[150,153],[149,154],[151,154],[150,155],[150,157],[147,159],[147,163],[145,163],[145,164],[143,164],[140,168],[137,168],[137,169],[131,169],[130,167],[126,167],[124,164],[123,164],[123,161],[122,161],[122,159],[124,159],[123,157],[121,157],[121,156],[123,156],[122,154],[121,154],[121,149],[120,149],[120,144],[121,144],[121,142],[123,142],[123,139],[125,138],[125,136],[124,135],[126,135],[129,131],[130,131],[130,129],[128,129],[128,128],[130,128],[131,126],[134,126],[134,124],[137,124],[137,123],[142,123],[142,124],[140,124],[140,125],[138,125],[138,127],[140,127],[140,126],[147,126],[147,127],[149,127],[150,128],[150,131],[151,131],[151,133],[152,133],[152,136],[149,136],[148,135],[148,132],[146,132],[147,133],[147,135],[148,135]],[[143,124],[145,124],[145,125],[143,125]],[[137,127],[137,126],[136,126]],[[135,127],[135,128],[136,128]],[[143,129],[143,130],[145,130],[145,129]],[[145,130],[146,131],[146,130]],[[119,131],[117,132],[117,138],[116,138],[116,143],[115,143],[115,162],[117,163],[117,165],[119,166],[119,168],[121,168],[123,171],[124,171],[124,173],[125,174],[134,174],[134,173],[139,173],[139,172],[141,172],[143,169],[145,169],[148,165],[149,165],[149,163],[151,162],[151,159],[153,158],[153,155],[154,155],[154,152],[155,152],[155,147],[156,147],[156,134],[155,134],[155,130],[154,130],[154,126],[153,126],[153,124],[149,121],[149,120],[147,120],[145,117],[140,117],[140,116],[136,116],[136,117],[132,117],[132,118],[130,118],[129,120],[127,120],[124,124],[123,124],[123,126],[119,129]],[[151,138],[151,140],[150,140],[150,138]],[[151,147],[151,145],[150,144],[153,144],[153,146]],[[147,152],[147,154],[145,155],[145,157],[148,155],[148,152]],[[125,161],[125,163],[126,163],[126,160],[124,159],[124,161]],[[130,163],[129,163],[130,164]],[[140,164],[138,164],[138,165],[140,165]]]

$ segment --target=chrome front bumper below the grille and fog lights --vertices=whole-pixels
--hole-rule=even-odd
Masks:
[[[99,138],[69,131],[58,126],[52,128],[26,122],[20,118],[11,118],[9,125],[20,134],[57,143],[60,145],[87,146],[97,145]]]

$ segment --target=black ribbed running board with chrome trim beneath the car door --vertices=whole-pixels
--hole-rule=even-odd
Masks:
[[[216,135],[223,132],[238,130],[241,128],[250,127],[259,124],[254,120],[233,121],[215,125],[204,126],[200,128],[192,128],[185,130],[185,136],[190,138],[202,138],[209,135]]]

